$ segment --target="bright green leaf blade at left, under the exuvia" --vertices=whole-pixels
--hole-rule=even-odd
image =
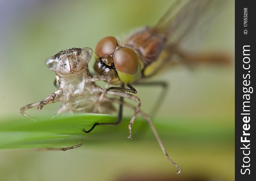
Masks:
[[[52,119],[39,119],[37,121],[21,119],[0,123],[0,148],[57,146],[57,143],[65,143],[63,141],[66,138],[76,138],[76,135],[86,134],[81,129],[89,130],[96,122],[113,123],[116,121],[115,116],[92,113],[64,114]]]

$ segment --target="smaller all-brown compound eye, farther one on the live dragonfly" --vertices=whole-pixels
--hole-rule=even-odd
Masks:
[[[95,53],[99,57],[112,55],[116,49],[117,41],[115,37],[105,37],[96,45]]]

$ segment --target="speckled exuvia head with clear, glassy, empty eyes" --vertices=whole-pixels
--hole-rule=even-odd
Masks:
[[[45,65],[59,76],[65,76],[88,68],[88,62],[92,58],[92,49],[70,48],[62,50],[45,60]]]

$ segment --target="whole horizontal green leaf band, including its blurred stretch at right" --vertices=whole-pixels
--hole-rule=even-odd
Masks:
[[[215,119],[217,120],[217,119]],[[129,118],[122,120],[118,126],[96,126],[86,134],[82,128],[89,130],[96,122],[113,123],[116,116],[108,114],[75,113],[63,114],[52,119],[5,119],[0,123],[0,149],[19,148],[45,148],[45,147],[69,147],[78,144],[83,139],[89,144],[113,144],[113,141],[126,141],[128,136]],[[159,135],[163,139],[182,141],[189,144],[192,140],[200,142],[232,141],[234,128],[229,124],[216,125],[211,120],[206,123],[198,123],[200,120],[193,118],[169,118],[154,120]],[[229,121],[228,121],[229,122]],[[186,124],[184,124],[186,123]],[[147,122],[136,119],[133,126],[133,140],[141,138],[154,139]],[[145,136],[145,134],[147,134]]]

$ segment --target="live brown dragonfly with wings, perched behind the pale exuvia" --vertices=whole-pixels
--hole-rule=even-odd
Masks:
[[[166,89],[164,81],[147,80],[167,67],[181,63],[188,66],[202,63],[228,64],[229,59],[223,54],[198,54],[181,48],[202,17],[211,13],[208,16],[212,19],[218,12],[219,3],[214,0],[176,1],[155,26],[140,28],[120,43],[112,36],[101,39],[95,48],[97,56],[94,71],[111,79],[107,87],[109,84],[121,85],[109,87],[109,90],[136,94],[137,90],[132,85],[161,86]],[[132,121],[128,125],[128,138],[132,134]]]

